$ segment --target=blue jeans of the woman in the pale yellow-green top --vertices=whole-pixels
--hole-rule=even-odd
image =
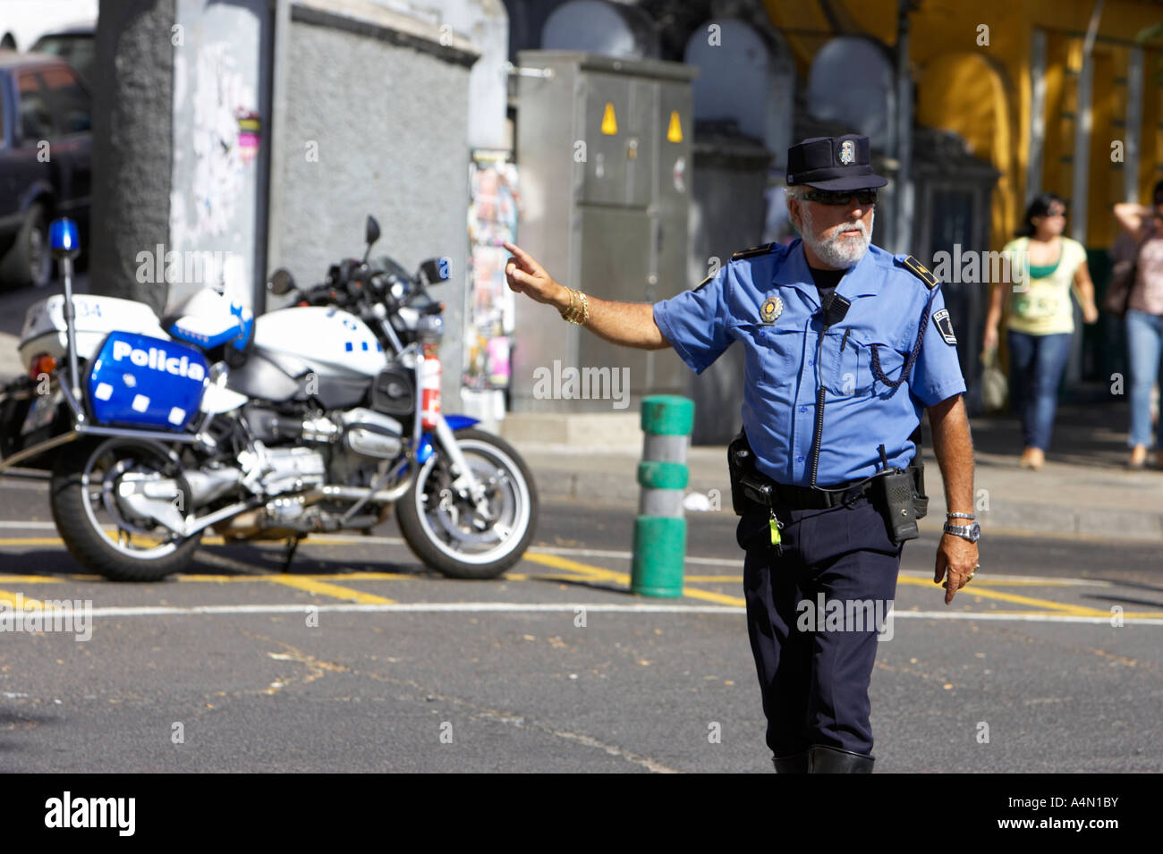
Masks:
[[[1008,332],[1011,400],[1021,417],[1026,447],[1046,451],[1050,446],[1058,383],[1066,369],[1072,338],[1070,333]]]

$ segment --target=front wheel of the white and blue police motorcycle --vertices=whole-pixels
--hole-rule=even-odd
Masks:
[[[454,579],[494,579],[516,564],[537,526],[537,490],[525,460],[483,430],[458,430],[456,444],[485,486],[484,512],[452,487],[438,447],[395,505],[405,541],[421,561]]]

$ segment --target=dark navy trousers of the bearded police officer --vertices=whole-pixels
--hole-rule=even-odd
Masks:
[[[871,603],[887,613],[902,545],[892,541],[884,517],[866,497],[825,510],[776,514],[784,524],[783,554],[771,545],[768,510],[749,510],[736,530],[747,551],[747,625],[768,746],[780,758],[813,744],[872,756],[869,683],[883,641],[869,608]],[[835,616],[833,601],[844,603],[843,623],[820,619]]]

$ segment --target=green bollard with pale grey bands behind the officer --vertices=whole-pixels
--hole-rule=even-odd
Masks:
[[[694,426],[694,401],[654,395],[642,401],[642,461],[638,517],[634,521],[630,590],[642,596],[682,596],[686,559],[683,495],[688,472],[686,445]]]

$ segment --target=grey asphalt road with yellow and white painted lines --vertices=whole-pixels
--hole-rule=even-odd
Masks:
[[[647,600],[622,510],[545,504],[492,582],[426,572],[385,524],[287,574],[277,546],[211,544],[129,586],[79,574],[47,497],[0,480],[0,600],[90,600],[92,637],[2,638],[0,770],[771,769],[729,512],[691,516],[686,595]],[[1163,770],[1155,547],[985,540],[947,608],[935,545],[906,546],[880,645],[878,773]]]

